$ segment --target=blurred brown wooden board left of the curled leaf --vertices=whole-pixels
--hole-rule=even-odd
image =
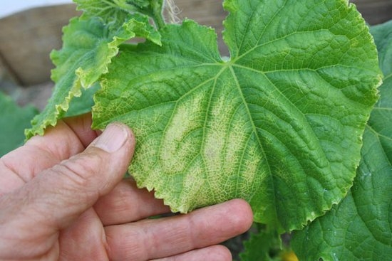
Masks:
[[[78,15],[75,5],[29,9],[0,19],[0,57],[19,85],[50,79],[49,53],[61,48],[61,28]]]

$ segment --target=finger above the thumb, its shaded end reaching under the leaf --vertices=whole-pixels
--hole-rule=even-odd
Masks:
[[[86,149],[97,134],[91,130],[91,114],[58,121],[44,136],[29,139],[0,159],[0,195],[20,188],[36,174]],[[21,161],[23,158],[23,161]]]

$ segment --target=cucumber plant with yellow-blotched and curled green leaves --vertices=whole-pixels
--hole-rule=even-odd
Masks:
[[[301,260],[392,256],[391,23],[369,31],[346,0],[225,0],[222,58],[163,0],[74,1],[27,138],[88,110],[128,124],[130,175],[172,211],[250,203],[263,225],[243,260],[284,258],[265,240],[282,233]]]

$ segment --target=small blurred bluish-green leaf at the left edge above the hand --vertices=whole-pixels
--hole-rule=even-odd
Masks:
[[[19,107],[11,97],[0,92],[0,156],[24,143],[24,129],[38,113],[33,106]]]

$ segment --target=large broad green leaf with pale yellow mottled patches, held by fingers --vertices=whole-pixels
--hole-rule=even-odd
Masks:
[[[352,185],[381,82],[376,47],[344,0],[224,6],[229,60],[193,21],[163,28],[162,47],[124,46],[94,127],[133,128],[130,173],[172,211],[244,198],[257,222],[301,228]]]

